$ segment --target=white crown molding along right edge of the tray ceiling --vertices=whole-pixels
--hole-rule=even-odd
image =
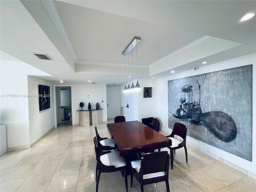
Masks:
[[[189,51],[189,50],[191,50],[191,49],[193,49],[193,48],[195,48],[195,47],[197,47],[197,46],[199,46],[201,44],[204,44],[205,42],[208,42],[208,41],[210,41],[210,40],[212,40],[214,38],[215,37],[207,36],[207,35],[202,36],[201,38],[193,41],[192,43],[190,43],[190,44],[188,44],[188,45],[186,45],[186,46],[184,46],[184,47],[182,47],[182,48],[172,52],[171,54],[161,58],[160,60],[157,60],[156,62],[150,64],[149,68],[155,67],[155,66],[157,66],[157,65],[159,65],[159,64],[161,64],[161,63],[163,63],[163,62],[165,62],[167,60],[170,60],[171,58],[174,58],[174,57],[176,57],[176,56],[178,56],[180,54],[183,54],[183,53],[185,53],[185,52],[187,52],[187,51]]]

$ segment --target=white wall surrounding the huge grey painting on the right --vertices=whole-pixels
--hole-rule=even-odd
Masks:
[[[171,132],[171,130],[168,128],[168,80],[174,80],[178,78],[184,78],[188,76],[194,76],[198,74],[204,74],[209,72],[214,72],[218,70],[225,70],[229,68],[235,68],[239,66],[245,66],[252,64],[252,162],[244,160],[243,158],[240,158],[238,156],[235,156],[233,154],[230,154],[228,152],[225,152],[223,150],[220,150],[214,146],[208,145],[204,142],[201,142],[199,140],[196,140],[191,137],[187,137],[187,141],[191,142],[192,144],[195,144],[198,146],[198,149],[205,152],[206,154],[220,160],[221,162],[224,162],[225,164],[228,164],[229,166],[232,166],[233,168],[236,168],[237,170],[240,170],[247,174],[248,176],[251,176],[252,178],[256,178],[256,54],[249,54],[246,56],[241,56],[238,58],[234,58],[231,60],[226,60],[224,62],[219,62],[216,64],[204,66],[198,68],[198,70],[188,70],[186,72],[181,72],[178,74],[174,74],[171,76],[166,76],[163,78],[158,78],[156,80],[156,86],[157,86],[157,116],[162,120],[162,126],[161,128],[163,130],[166,130],[167,132]]]

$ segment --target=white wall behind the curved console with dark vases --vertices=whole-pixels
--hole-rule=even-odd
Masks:
[[[102,121],[107,122],[107,93],[106,84],[73,84],[72,86],[72,110],[74,115],[74,124],[79,124],[79,114],[76,110],[81,110],[79,104],[84,103],[83,110],[88,109],[88,103],[91,109],[96,109],[96,103],[100,104],[102,110]],[[90,95],[90,98],[88,98]],[[103,100],[103,103],[102,103]]]

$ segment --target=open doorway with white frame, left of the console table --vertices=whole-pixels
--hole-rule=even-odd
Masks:
[[[54,126],[73,126],[72,86],[54,86]]]

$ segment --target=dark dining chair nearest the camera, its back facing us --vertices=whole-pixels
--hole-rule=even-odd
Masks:
[[[144,192],[144,185],[165,181],[166,190],[170,192],[169,174],[170,155],[167,151],[145,153],[141,160],[131,162],[131,187],[133,176],[140,183],[140,190]]]

